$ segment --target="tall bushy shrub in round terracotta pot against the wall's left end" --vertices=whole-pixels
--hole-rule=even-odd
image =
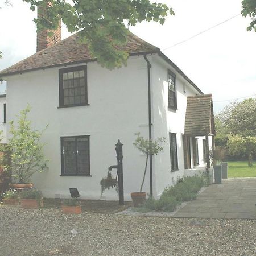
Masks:
[[[17,125],[13,121],[10,122],[10,139],[6,146],[6,150],[10,152],[7,155],[10,164],[6,164],[5,168],[11,171],[10,187],[15,189],[32,187],[32,175],[47,168],[48,161],[43,155],[44,144],[40,143],[42,131],[31,127],[27,116],[30,110],[30,106],[27,106],[20,112]]]

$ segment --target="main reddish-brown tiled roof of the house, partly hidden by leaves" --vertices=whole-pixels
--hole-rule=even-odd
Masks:
[[[152,53],[160,51],[159,48],[145,42],[131,32],[128,35],[127,44],[117,47],[129,52],[130,55]],[[13,75],[40,68],[49,68],[56,65],[76,64],[85,61],[95,60],[89,53],[85,44],[79,43],[79,32],[62,40],[54,46],[36,52],[34,55],[4,69],[0,72],[1,76]]]

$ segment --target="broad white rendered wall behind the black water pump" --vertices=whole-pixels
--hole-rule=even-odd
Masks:
[[[82,198],[99,199],[100,181],[108,167],[117,163],[115,143],[121,139],[125,200],[130,200],[130,193],[139,190],[146,160],[133,142],[134,133],[148,137],[147,63],[140,56],[131,57],[127,67],[114,71],[96,63],[88,63],[87,67],[89,106],[57,108],[62,66],[7,77],[7,116],[9,120],[16,119],[15,115],[30,104],[29,118],[36,129],[49,125],[42,137],[49,169],[32,179],[46,197],[56,194],[67,197],[68,189],[75,187]],[[72,135],[90,135],[92,177],[60,176],[60,137]],[[148,175],[143,188],[147,193],[150,192]],[[105,195],[107,200],[118,200],[114,189]]]

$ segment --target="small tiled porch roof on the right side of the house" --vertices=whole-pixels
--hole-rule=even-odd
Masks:
[[[215,135],[212,94],[189,96],[185,117],[184,135]]]

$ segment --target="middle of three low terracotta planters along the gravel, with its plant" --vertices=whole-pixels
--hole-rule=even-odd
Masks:
[[[42,192],[35,188],[25,189],[20,192],[20,204],[22,208],[43,207]]]

